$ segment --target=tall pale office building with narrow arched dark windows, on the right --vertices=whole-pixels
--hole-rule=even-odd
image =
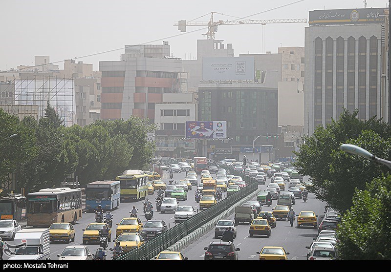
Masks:
[[[387,12],[387,10],[386,10]],[[305,28],[304,132],[338,119],[388,118],[385,9],[314,10]]]

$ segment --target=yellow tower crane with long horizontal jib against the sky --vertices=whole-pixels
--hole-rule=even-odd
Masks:
[[[234,21],[213,21],[213,14],[217,12],[211,12],[211,19],[207,21],[186,21],[181,20],[174,23],[178,26],[180,32],[186,32],[186,26],[208,26],[208,32],[202,35],[206,35],[208,40],[215,40],[215,33],[219,25],[235,25],[235,24],[262,24],[267,23],[296,23],[296,22],[307,22],[307,19],[271,19],[271,20],[234,20]],[[221,13],[218,13],[221,14]]]

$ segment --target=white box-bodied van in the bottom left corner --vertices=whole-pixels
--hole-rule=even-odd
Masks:
[[[9,260],[50,260],[49,229],[23,229],[15,233],[14,243],[22,245]]]

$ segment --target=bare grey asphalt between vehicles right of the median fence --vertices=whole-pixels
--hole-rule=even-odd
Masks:
[[[304,177],[304,179],[306,179]],[[266,185],[259,185],[259,188],[266,188],[270,183],[270,179],[267,179]],[[287,186],[286,186],[287,188]],[[256,198],[252,199],[256,200]],[[277,201],[273,200],[273,204],[270,207],[262,206],[262,210],[272,211],[272,208],[277,205]],[[322,222],[321,216],[324,215],[325,203],[315,199],[313,194],[308,194],[308,200],[306,203],[302,199],[296,199],[296,204],[292,206],[296,214],[299,214],[302,210],[312,210],[318,215],[318,226]],[[227,217],[227,219],[234,219],[234,214]],[[297,220],[297,217],[296,217]],[[313,241],[312,238],[316,238],[318,230],[310,227],[297,228],[297,222],[295,221],[293,227],[290,227],[289,222],[284,220],[278,220],[277,227],[272,229],[271,236],[249,237],[250,226],[247,223],[239,223],[237,227],[238,236],[234,240],[234,244],[240,249],[239,259],[245,260],[258,260],[257,251],[260,251],[263,246],[282,246],[287,252],[288,259],[293,260],[305,260],[307,249],[305,246],[309,246]],[[185,257],[189,259],[202,260],[204,258],[204,247],[207,247],[211,241],[217,241],[214,239],[214,229],[210,230],[202,237],[198,238],[195,242],[182,249],[181,252]]]

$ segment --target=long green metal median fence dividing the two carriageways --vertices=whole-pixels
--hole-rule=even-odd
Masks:
[[[221,166],[225,168],[228,172],[235,174],[236,176],[241,176],[244,181],[246,181],[247,186],[242,188],[238,192],[222,199],[216,205],[198,212],[195,216],[187,219],[186,221],[177,224],[173,228],[165,231],[159,236],[153,238],[152,240],[147,241],[141,247],[133,249],[127,253],[122,254],[114,259],[116,260],[150,260],[156,256],[160,251],[164,251],[167,248],[174,245],[177,241],[191,233],[192,231],[198,229],[202,225],[206,224],[216,216],[218,216],[223,211],[230,208],[232,205],[237,203],[240,199],[248,196],[250,193],[254,192],[258,188],[258,183],[255,180],[250,180],[247,177],[244,177],[241,173],[234,171],[230,167]]]

